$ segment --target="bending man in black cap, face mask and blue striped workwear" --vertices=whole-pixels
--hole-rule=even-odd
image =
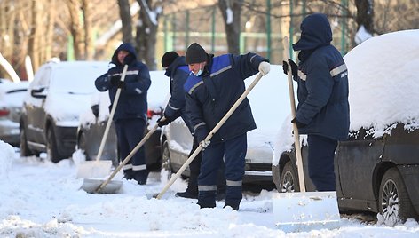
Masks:
[[[245,91],[244,80],[257,72],[267,74],[270,64],[255,53],[214,57],[197,43],[187,48],[186,63],[192,71],[185,83],[186,113],[194,135],[205,147],[198,177],[198,204],[201,208],[216,206],[217,170],[225,163],[225,207],[238,210],[247,151],[246,133],[256,128],[249,100],[241,102],[209,145],[204,139],[241,97]]]

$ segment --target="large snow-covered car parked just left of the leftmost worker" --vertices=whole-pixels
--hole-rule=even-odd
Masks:
[[[51,61],[43,64],[30,83],[20,116],[20,154],[47,153],[57,163],[75,151],[81,112],[91,107],[98,75],[105,61]]]

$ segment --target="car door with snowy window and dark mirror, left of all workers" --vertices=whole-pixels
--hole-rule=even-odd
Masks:
[[[34,77],[28,91],[28,99],[26,99],[28,143],[36,147],[44,147],[45,145],[45,111],[43,104],[48,91],[48,85],[51,77],[51,67],[45,66],[40,68]]]

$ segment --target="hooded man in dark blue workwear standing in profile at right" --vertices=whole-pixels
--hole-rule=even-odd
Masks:
[[[289,59],[298,83],[296,123],[307,134],[309,176],[318,191],[335,191],[334,156],[339,140],[349,132],[348,70],[340,52],[330,44],[326,15],[314,13],[301,23],[301,38],[293,44],[299,65]],[[283,62],[284,73],[289,67]]]

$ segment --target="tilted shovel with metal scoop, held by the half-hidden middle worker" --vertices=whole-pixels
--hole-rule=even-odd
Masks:
[[[164,117],[163,117],[164,118]],[[123,159],[123,162],[116,167],[115,171],[112,172],[112,174],[107,178],[106,180],[99,180],[99,179],[85,179],[85,183],[82,186],[82,189],[86,191],[89,194],[115,194],[118,192],[118,190],[123,186],[122,181],[111,181],[112,178],[115,177],[116,173],[121,171],[123,168],[123,165],[128,163],[130,161],[130,158],[134,156],[138,149],[142,147],[147,139],[149,139],[154,131],[157,130],[159,127],[158,123],[155,123],[152,130],[148,131],[146,136],[144,136],[141,141],[138,142],[137,146],[132,149],[129,155],[125,159]]]

